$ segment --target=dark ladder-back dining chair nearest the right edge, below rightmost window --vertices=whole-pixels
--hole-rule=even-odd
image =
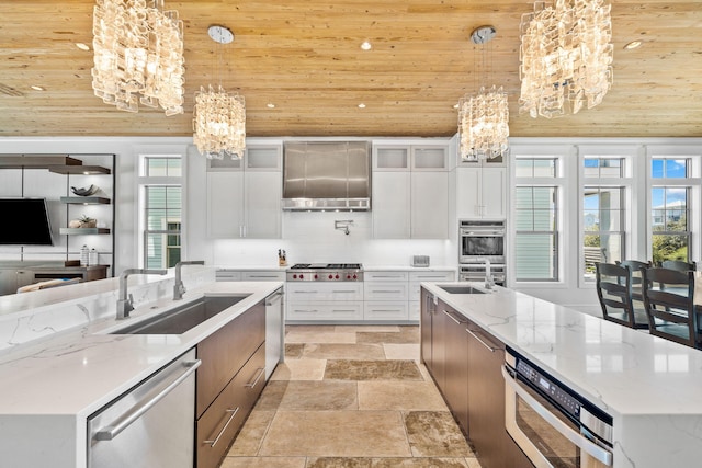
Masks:
[[[644,304],[650,334],[700,347],[702,330],[694,305],[693,271],[644,270]]]

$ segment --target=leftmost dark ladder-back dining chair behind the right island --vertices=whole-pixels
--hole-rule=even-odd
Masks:
[[[647,329],[646,310],[634,307],[632,300],[631,267],[600,262],[595,264],[595,275],[602,318],[633,329]]]

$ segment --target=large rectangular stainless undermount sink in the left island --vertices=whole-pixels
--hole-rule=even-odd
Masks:
[[[249,297],[250,294],[203,296],[176,309],[129,324],[110,334],[181,334]]]

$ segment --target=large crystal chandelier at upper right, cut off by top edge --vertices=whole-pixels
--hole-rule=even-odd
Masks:
[[[552,118],[602,102],[612,85],[610,10],[605,0],[536,1],[522,15],[520,112]]]

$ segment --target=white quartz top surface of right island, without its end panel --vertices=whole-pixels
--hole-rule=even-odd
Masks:
[[[441,284],[422,286],[612,416],[702,415],[702,351],[511,289],[449,294]]]

